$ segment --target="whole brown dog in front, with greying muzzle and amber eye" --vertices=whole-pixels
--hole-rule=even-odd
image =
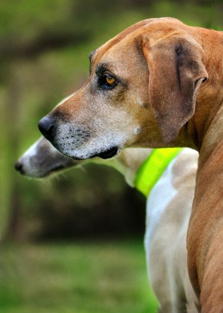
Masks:
[[[199,151],[187,248],[203,313],[223,312],[222,58],[222,32],[141,21],[91,53],[87,83],[39,122],[74,159],[127,146]]]

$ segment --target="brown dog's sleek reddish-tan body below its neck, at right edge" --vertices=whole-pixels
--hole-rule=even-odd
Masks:
[[[216,84],[218,83],[219,80]],[[220,239],[223,235],[222,85],[218,94],[218,99],[221,97],[221,100],[211,107],[209,116],[203,124],[203,131],[199,133],[202,143],[199,147],[195,195],[188,228],[189,273],[196,295],[200,296],[202,307],[210,307],[214,299],[222,299],[223,245]],[[215,304],[222,306],[223,302]]]

